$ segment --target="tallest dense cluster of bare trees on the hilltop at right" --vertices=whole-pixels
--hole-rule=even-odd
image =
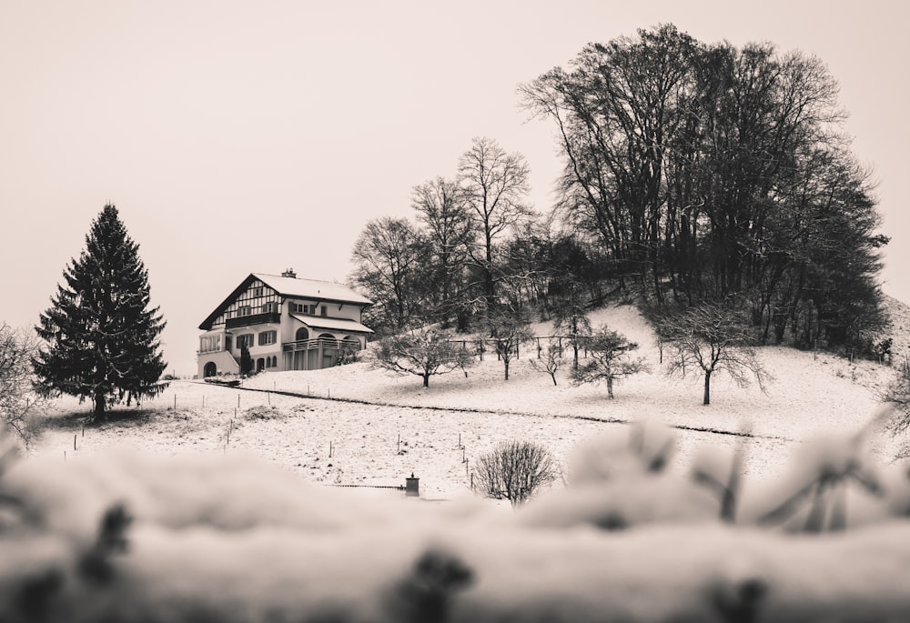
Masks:
[[[884,322],[880,217],[820,59],[672,25],[521,85],[557,130],[559,213],[657,305],[737,298],[764,341],[854,348]]]

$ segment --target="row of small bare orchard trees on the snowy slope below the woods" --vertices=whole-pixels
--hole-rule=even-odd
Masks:
[[[748,322],[731,306],[704,303],[675,313],[655,312],[651,319],[664,374],[701,377],[704,405],[711,404],[715,373],[723,371],[739,387],[754,381],[762,391],[772,379],[758,356],[757,340],[748,331]],[[570,348],[571,383],[603,383],[610,399],[615,383],[651,369],[644,357],[635,357],[638,344],[606,325],[593,329],[581,309],[565,311],[556,318],[554,327],[560,335],[550,337],[546,346],[539,344],[538,352],[530,358],[531,367],[550,376],[553,385],[557,385],[556,373],[567,362],[566,350]],[[533,338],[527,320],[511,313],[492,314],[480,335],[478,339],[459,340],[450,331],[434,327],[412,329],[380,340],[370,360],[377,367],[422,377],[423,387],[429,387],[431,376],[455,369],[468,374],[467,368],[475,363],[477,354],[467,347],[470,342],[480,348],[491,347],[508,381],[511,361]],[[580,349],[585,353],[583,362],[579,361]],[[892,391],[889,399],[907,410],[908,392],[901,387]]]

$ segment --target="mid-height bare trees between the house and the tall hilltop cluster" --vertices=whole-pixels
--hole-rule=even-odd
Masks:
[[[369,221],[352,252],[352,281],[374,301],[370,320],[380,332],[428,322],[463,330],[497,306],[511,278],[505,239],[532,217],[528,175],[521,154],[475,138],[454,178],[413,188],[417,224]]]

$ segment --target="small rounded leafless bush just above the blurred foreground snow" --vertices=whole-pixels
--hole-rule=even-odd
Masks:
[[[485,497],[508,499],[516,507],[556,480],[558,473],[545,447],[528,441],[504,441],[477,459],[474,487]]]

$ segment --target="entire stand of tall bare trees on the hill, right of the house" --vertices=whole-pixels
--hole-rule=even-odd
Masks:
[[[497,305],[552,311],[634,285],[674,311],[735,302],[762,343],[875,345],[887,238],[820,59],[661,25],[519,90],[557,130],[552,212],[527,206],[521,154],[474,139],[454,176],[414,187],[414,222],[379,218],[359,238],[352,281],[379,333],[464,331]]]

